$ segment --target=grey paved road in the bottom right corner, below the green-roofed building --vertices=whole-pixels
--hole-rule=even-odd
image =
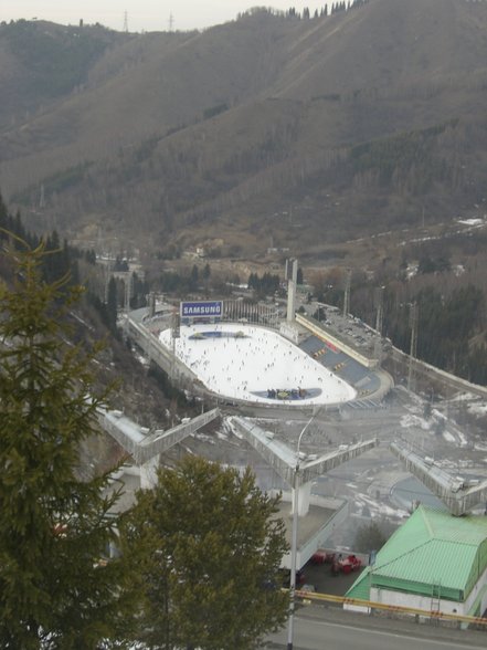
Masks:
[[[295,618],[294,650],[472,650],[487,646],[487,632],[416,626],[403,621],[340,616]],[[362,625],[360,625],[362,623]],[[287,648],[287,629],[274,635],[267,650]]]

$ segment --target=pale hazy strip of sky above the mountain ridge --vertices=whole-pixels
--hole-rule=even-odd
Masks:
[[[313,12],[324,4],[326,0],[0,0],[0,21],[39,18],[61,24],[77,24],[83,19],[87,24],[99,22],[123,30],[127,12],[128,30],[131,32],[167,30],[171,14],[173,29],[189,30],[234,20],[239,12],[256,6],[282,10],[295,7],[297,11],[308,7]]]

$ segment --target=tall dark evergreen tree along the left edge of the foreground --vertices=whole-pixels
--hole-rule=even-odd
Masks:
[[[0,284],[0,647],[108,648],[124,637],[130,594],[125,562],[102,560],[118,495],[102,495],[107,475],[77,476],[106,398],[94,389],[96,350],[67,343],[80,289],[42,280],[43,244],[17,249],[13,286]]]

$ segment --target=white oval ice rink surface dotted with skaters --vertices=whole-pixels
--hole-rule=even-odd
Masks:
[[[171,329],[159,340],[172,346]],[[204,386],[229,399],[325,405],[356,390],[277,332],[240,323],[181,326],[176,355]],[[271,397],[272,396],[272,397]]]

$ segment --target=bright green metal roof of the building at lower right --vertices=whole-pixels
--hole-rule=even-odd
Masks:
[[[370,586],[463,601],[487,567],[487,516],[417,507],[347,593]],[[360,596],[359,596],[360,594]]]

